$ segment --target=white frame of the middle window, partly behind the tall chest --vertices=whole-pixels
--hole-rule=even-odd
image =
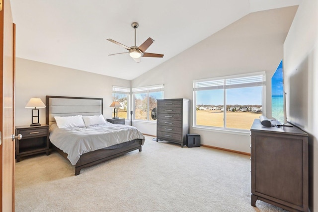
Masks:
[[[136,88],[132,88],[132,105],[133,105],[133,120],[134,121],[141,121],[141,122],[157,122],[157,120],[150,120],[149,114],[149,93],[152,92],[162,92],[162,99],[164,98],[164,86],[163,84],[159,84],[159,85],[151,85],[151,86],[145,86],[145,87],[136,87]],[[136,119],[136,98],[135,95],[138,93],[147,93],[147,109],[148,109],[148,113],[147,113],[147,120],[144,119]]]

